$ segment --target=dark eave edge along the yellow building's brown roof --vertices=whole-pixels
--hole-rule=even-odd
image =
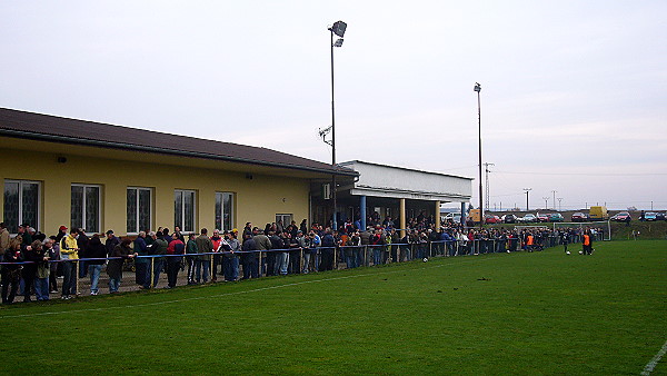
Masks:
[[[280,168],[288,168],[288,169],[296,169],[296,170],[311,171],[311,172],[322,172],[322,174],[331,174],[331,175],[336,174],[336,175],[340,175],[340,176],[351,176],[351,177],[359,176],[359,172],[351,170],[351,169],[349,171],[337,170],[335,172],[332,169],[319,169],[319,168],[307,167],[307,166],[278,164],[278,162],[271,162],[271,161],[237,158],[237,157],[229,157],[229,156],[216,156],[216,155],[206,154],[206,152],[165,149],[165,148],[140,146],[140,145],[132,145],[132,144],[92,140],[92,139],[88,139],[88,138],[72,139],[72,138],[69,138],[66,136],[24,132],[24,131],[14,130],[14,129],[0,128],[0,135],[14,137],[14,138],[32,139],[32,140],[37,140],[37,141],[51,141],[51,142],[56,141],[59,144],[70,144],[70,145],[83,144],[87,146],[98,146],[98,147],[104,147],[104,148],[110,148],[110,149],[146,151],[146,152],[153,152],[153,154],[161,154],[161,155],[173,155],[173,156],[183,156],[183,157],[192,157],[192,158],[223,160],[223,161],[241,162],[241,164],[258,165],[258,166],[280,167]]]

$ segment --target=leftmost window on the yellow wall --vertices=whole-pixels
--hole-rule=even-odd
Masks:
[[[40,230],[41,185],[39,181],[4,180],[3,221],[11,234],[19,225],[29,224]]]

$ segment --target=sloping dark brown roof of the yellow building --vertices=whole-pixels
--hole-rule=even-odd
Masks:
[[[334,172],[331,165],[271,149],[0,108],[0,136]],[[338,167],[337,175],[358,172]]]

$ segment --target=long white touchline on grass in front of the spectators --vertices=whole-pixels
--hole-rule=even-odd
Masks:
[[[163,304],[182,303],[182,301],[191,301],[191,300],[202,300],[202,299],[210,299],[210,298],[219,298],[219,297],[223,297],[223,296],[232,296],[232,295],[259,293],[259,291],[266,291],[266,290],[271,290],[271,289],[276,289],[276,288],[292,287],[292,286],[299,286],[299,285],[306,285],[306,284],[313,284],[313,283],[322,283],[322,281],[349,279],[349,278],[357,278],[357,277],[369,277],[369,276],[377,276],[377,275],[384,275],[384,274],[394,274],[394,273],[406,273],[406,271],[412,271],[412,270],[434,269],[434,268],[440,268],[440,267],[444,267],[444,266],[452,266],[452,265],[460,265],[460,264],[470,264],[470,263],[485,261],[485,260],[491,260],[491,259],[497,259],[497,257],[492,257],[492,258],[491,257],[477,258],[476,260],[462,260],[461,263],[457,263],[457,264],[441,264],[441,265],[434,265],[434,266],[421,267],[421,268],[409,269],[409,270],[397,269],[397,270],[379,271],[379,273],[372,273],[372,274],[358,274],[358,275],[354,275],[354,276],[342,276],[342,277],[323,278],[323,279],[315,279],[315,280],[302,280],[302,281],[298,281],[298,283],[291,283],[291,284],[285,284],[285,285],[278,285],[278,286],[260,287],[260,288],[255,288],[255,289],[245,290],[245,291],[225,293],[225,294],[216,294],[216,295],[209,295],[209,296],[196,296],[196,297],[185,298],[185,299],[173,299],[173,300],[163,300],[163,301],[155,301],[155,303],[142,303],[142,304],[126,305],[126,306],[118,306],[118,307],[100,307],[100,308],[84,308],[84,309],[56,310],[56,311],[51,310],[51,311],[36,313],[36,314],[24,314],[24,315],[13,315],[13,316],[0,316],[0,318],[4,319],[4,318],[36,317],[36,316],[48,316],[48,315],[59,315],[59,314],[76,314],[76,313],[87,313],[87,311],[101,311],[101,310],[109,310],[109,309],[125,309],[125,308],[137,308],[137,307],[150,307],[150,306],[159,306],[159,305],[163,305]]]

